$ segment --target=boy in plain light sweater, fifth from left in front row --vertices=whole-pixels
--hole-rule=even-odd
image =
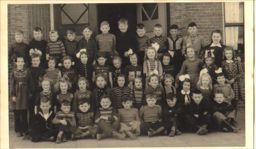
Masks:
[[[120,121],[119,132],[125,133],[132,140],[140,135],[140,116],[138,109],[131,108],[132,97],[124,95],[122,97],[123,109],[118,109],[118,120]]]

